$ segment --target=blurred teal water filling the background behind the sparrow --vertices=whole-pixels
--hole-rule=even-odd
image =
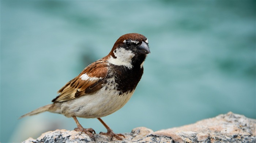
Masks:
[[[125,33],[149,39],[135,94],[102,119],[116,133],[154,131],[232,111],[256,118],[255,1],[1,0],[1,136],[22,142],[73,130],[72,118],[19,116],[56,92]],[[97,119],[78,119],[99,133]]]

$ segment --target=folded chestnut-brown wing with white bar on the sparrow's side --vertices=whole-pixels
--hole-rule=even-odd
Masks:
[[[102,88],[108,65],[102,59],[86,67],[76,78],[62,87],[52,102],[64,102],[87,94],[92,94]]]

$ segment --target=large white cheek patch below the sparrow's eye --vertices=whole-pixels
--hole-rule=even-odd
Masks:
[[[124,48],[117,48],[114,51],[114,55],[116,56],[116,58],[113,58],[112,56],[110,56],[108,59],[109,63],[114,65],[123,65],[129,69],[133,67],[132,58],[135,56],[135,54],[132,53],[131,50],[126,50]]]

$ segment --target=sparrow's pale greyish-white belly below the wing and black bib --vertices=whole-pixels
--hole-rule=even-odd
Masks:
[[[119,95],[115,89],[101,88],[91,95],[84,95],[61,104],[61,114],[80,118],[100,118],[116,112],[131,98],[134,90]]]

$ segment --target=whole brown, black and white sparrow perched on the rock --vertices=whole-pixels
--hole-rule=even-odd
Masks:
[[[92,128],[83,128],[76,117],[97,118],[108,135],[122,140],[122,134],[114,134],[110,127],[101,120],[122,108],[131,98],[143,74],[143,63],[150,53],[148,39],[138,33],[121,36],[110,53],[88,65],[84,70],[69,81],[57,93],[59,96],[52,104],[31,111],[25,116],[49,111],[72,117],[77,125],[75,131],[81,131],[94,138]]]

